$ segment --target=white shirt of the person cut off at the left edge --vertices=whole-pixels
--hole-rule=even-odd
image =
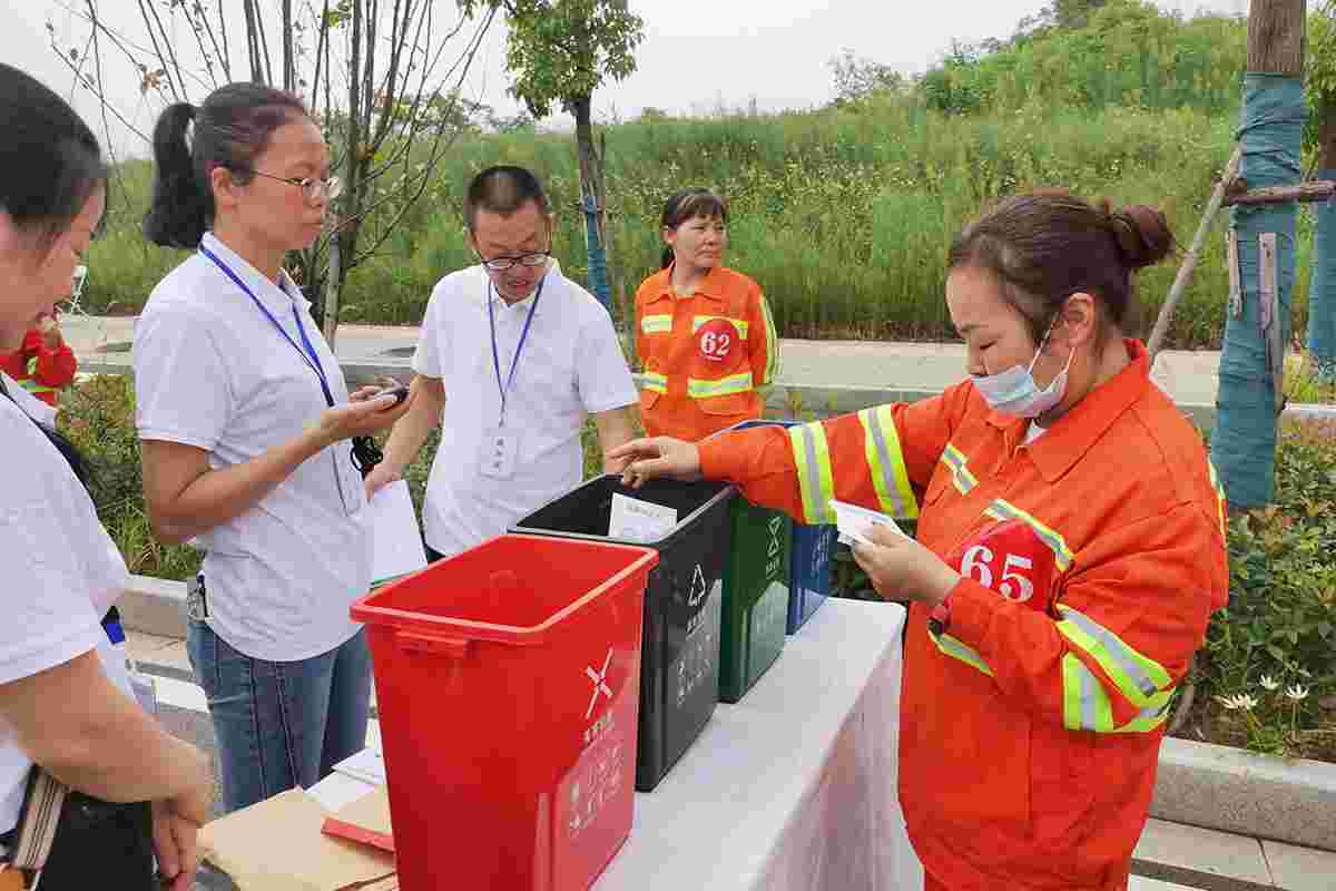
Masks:
[[[5,462],[0,485],[0,684],[96,651],[107,676],[130,693],[124,656],[102,629],[102,617],[130,584],[126,561],[64,457],[24,414],[43,419],[47,406],[8,377],[4,383],[23,410],[0,395],[0,456]],[[0,835],[19,819],[31,767],[12,728],[0,720]]]

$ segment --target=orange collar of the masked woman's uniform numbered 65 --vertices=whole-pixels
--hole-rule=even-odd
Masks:
[[[1125,339],[1128,367],[1088,393],[1042,437],[1025,446],[1030,460],[1047,482],[1055,482],[1085,456],[1150,386],[1150,359],[1141,341]],[[1009,450],[1023,438],[1027,422],[998,411],[989,413],[989,423],[1003,430]]]

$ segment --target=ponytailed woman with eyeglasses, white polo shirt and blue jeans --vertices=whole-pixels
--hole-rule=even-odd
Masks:
[[[144,234],[194,254],[135,329],[144,497],[160,541],[206,552],[187,645],[236,810],[366,744],[370,659],[349,618],[371,581],[357,443],[407,406],[349,394],[282,269],[339,191],[298,99],[230,84],[172,106],[154,154]]]

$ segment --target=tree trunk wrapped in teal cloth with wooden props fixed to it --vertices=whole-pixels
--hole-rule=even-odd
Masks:
[[[1300,180],[1308,118],[1303,59],[1303,0],[1253,0],[1238,131],[1240,176],[1249,190]],[[1265,505],[1275,493],[1276,421],[1283,406],[1273,370],[1277,362],[1284,367],[1289,343],[1296,211],[1293,202],[1236,206],[1230,216],[1242,299],[1226,313],[1210,457],[1232,509]],[[1275,277],[1264,283],[1264,244],[1272,242]]]

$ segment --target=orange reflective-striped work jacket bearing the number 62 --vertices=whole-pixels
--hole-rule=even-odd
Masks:
[[[676,297],[672,267],[636,291],[636,354],[644,362],[640,415],[652,437],[695,442],[762,415],[779,370],[770,305],[756,282],[716,267]]]

